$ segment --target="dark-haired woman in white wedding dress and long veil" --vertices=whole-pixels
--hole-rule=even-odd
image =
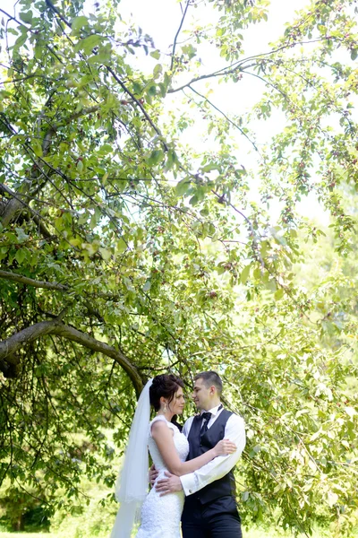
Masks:
[[[149,422],[150,405],[157,412]],[[116,485],[116,497],[121,503],[115,518],[111,538],[131,538],[132,526],[141,516],[136,538],[181,538],[180,519],[184,493],[177,491],[160,496],[153,487],[148,491],[149,456],[158,470],[157,480],[166,471],[182,476],[192,473],[213,458],[232,454],[235,445],[223,439],[205,454],[186,462],[189,452],[187,438],[172,419],[183,413],[183,381],[173,374],[150,379],[141,392],[134,414],[122,473]]]

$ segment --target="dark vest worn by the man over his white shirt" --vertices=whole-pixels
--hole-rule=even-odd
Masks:
[[[186,458],[191,460],[194,457],[201,456],[207,452],[210,448],[215,447],[215,445],[224,438],[226,422],[233,413],[223,409],[222,412],[217,417],[217,420],[210,426],[204,435],[200,438],[200,429],[202,419],[200,415],[194,417],[192,421],[192,428],[189,432],[188,441],[189,441],[189,454]],[[222,478],[211,482],[205,488],[197,491],[195,497],[200,500],[201,504],[205,504],[219,497],[225,497],[230,495],[235,497],[235,480],[234,473],[230,471]],[[190,497],[190,496],[189,496]]]

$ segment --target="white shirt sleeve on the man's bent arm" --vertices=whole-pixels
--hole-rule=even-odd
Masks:
[[[185,423],[186,425],[186,423]],[[226,439],[230,439],[236,445],[237,449],[234,454],[229,456],[217,456],[203,465],[194,473],[183,474],[180,477],[185,495],[192,495],[196,491],[205,488],[211,482],[214,482],[225,476],[237,464],[242,455],[243,448],[246,444],[245,424],[243,417],[232,414],[225,427]]]

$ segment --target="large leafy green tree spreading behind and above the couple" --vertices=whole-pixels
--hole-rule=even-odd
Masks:
[[[312,2],[248,57],[240,32],[267,19],[266,0],[207,2],[215,23],[186,30],[181,45],[196,4],[183,4],[170,56],[118,24],[116,1],[87,14],[67,1],[0,10],[2,480],[45,482],[47,499],[61,487],[69,502],[82,473],[112,487],[104,431],[123,446],[143,382],[173,369],[190,390],[192,374],[212,368],[248,424],[246,518],[278,507],[281,525],[309,532],[321,504],[349,534],[354,349],[322,345],[331,298],[319,286],[318,308],[293,267],[300,237],[321,235],[296,212],[309,193],[332,215],[339,255],[354,247],[340,184],[358,178],[356,8]],[[203,71],[201,47],[218,51],[220,69]],[[245,77],[266,92],[247,117],[226,114],[205,83]],[[252,126],[275,110],[285,126],[260,147]],[[199,118],[210,143],[191,147]],[[355,327],[344,320],[340,334]]]

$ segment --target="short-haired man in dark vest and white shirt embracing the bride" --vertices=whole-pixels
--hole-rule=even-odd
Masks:
[[[237,447],[230,456],[218,456],[194,473],[181,477],[166,473],[156,489],[162,495],[183,490],[183,538],[242,538],[241,521],[235,501],[233,468],[245,446],[243,418],[220,404],[222,381],[216,372],[194,377],[193,401],[200,414],[189,418],[183,433],[189,441],[188,460],[228,438]]]

